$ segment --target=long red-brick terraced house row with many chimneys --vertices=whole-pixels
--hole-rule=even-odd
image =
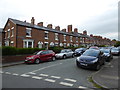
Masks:
[[[3,31],[5,32],[3,41],[5,46],[17,48],[77,47],[96,44],[95,39],[88,36],[86,30],[83,33],[79,33],[77,28],[72,31],[72,25],[68,25],[67,29],[60,30],[59,26],[53,28],[52,24],[45,27],[43,22],[35,25],[34,17],[32,17],[31,23],[9,18]]]

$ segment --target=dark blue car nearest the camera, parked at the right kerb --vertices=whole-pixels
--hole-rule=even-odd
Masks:
[[[76,59],[78,67],[92,68],[95,70],[99,70],[104,63],[105,57],[103,52],[96,49],[88,49]]]

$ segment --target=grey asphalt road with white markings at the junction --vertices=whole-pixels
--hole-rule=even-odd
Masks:
[[[94,70],[78,68],[75,58],[3,68],[3,88],[94,88]]]

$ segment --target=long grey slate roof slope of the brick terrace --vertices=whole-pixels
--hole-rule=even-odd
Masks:
[[[83,34],[80,34],[80,33],[75,33],[75,32],[68,33],[68,32],[63,32],[63,31],[56,30],[56,29],[47,28],[47,27],[44,27],[44,26],[42,27],[42,26],[38,26],[38,25],[32,25],[31,23],[16,20],[16,19],[12,19],[12,18],[9,18],[9,20],[16,25],[27,26],[27,27],[30,27],[30,28],[38,29],[38,30],[42,29],[42,30],[45,30],[45,31],[51,31],[51,32],[66,34],[66,35],[71,35],[71,36],[89,37],[88,35],[83,35]]]

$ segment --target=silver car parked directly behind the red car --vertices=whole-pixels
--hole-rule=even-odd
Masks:
[[[56,58],[67,58],[67,57],[74,57],[74,52],[71,49],[63,49],[60,53],[56,54]]]

